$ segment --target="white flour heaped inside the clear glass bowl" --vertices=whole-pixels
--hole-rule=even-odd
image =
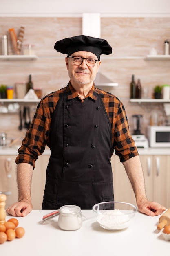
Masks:
[[[110,230],[119,230],[128,227],[130,218],[120,210],[109,210],[97,216],[97,222]]]

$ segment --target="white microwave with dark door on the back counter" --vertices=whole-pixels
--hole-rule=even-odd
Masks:
[[[147,138],[151,148],[170,148],[170,126],[148,126]]]

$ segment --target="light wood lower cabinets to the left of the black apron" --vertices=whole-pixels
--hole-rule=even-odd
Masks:
[[[9,207],[14,202],[18,201],[18,189],[16,183],[16,164],[17,155],[0,155],[0,191],[7,195],[6,206]],[[46,166],[49,161],[49,155],[42,155],[36,161],[36,166],[33,171],[31,184],[31,197],[33,209],[42,208],[42,200],[44,195],[44,187],[46,180]]]

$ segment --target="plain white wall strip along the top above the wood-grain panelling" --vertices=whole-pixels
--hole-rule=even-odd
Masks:
[[[170,0],[0,0],[0,16],[168,16]]]

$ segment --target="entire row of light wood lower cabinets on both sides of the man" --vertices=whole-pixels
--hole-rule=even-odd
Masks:
[[[15,178],[16,155],[0,155],[0,191],[8,192],[6,208],[18,200],[18,190]],[[44,187],[46,181],[46,167],[50,153],[41,155],[35,163],[33,171],[31,195],[33,209],[42,208]],[[170,157],[169,155],[140,155],[146,194],[148,200],[159,202],[167,209],[170,207]],[[130,202],[136,205],[135,195],[119,157],[111,158],[113,170],[113,185],[115,201]],[[9,176],[8,176],[9,175]]]

